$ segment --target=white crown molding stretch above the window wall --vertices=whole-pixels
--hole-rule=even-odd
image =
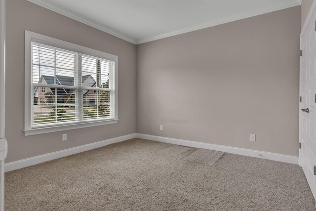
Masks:
[[[63,9],[63,8],[61,8],[59,6],[56,6],[54,4],[48,3],[48,2],[43,1],[43,0],[28,0],[28,1],[30,1],[32,3],[35,3],[37,5],[40,5],[40,6],[44,7],[44,8],[46,8],[46,9],[52,10],[54,12],[57,12],[59,14],[62,14],[64,16],[66,16],[66,17],[71,18],[71,19],[77,20],[77,21],[79,21],[81,23],[84,23],[84,24],[86,24],[88,26],[91,26],[91,27],[96,28],[98,30],[101,30],[103,32],[106,32],[106,33],[108,33],[110,35],[118,37],[118,38],[120,38],[122,40],[125,40],[127,42],[131,42],[133,44],[136,44],[136,41],[134,39],[128,37],[128,36],[125,36],[125,35],[123,35],[121,33],[115,32],[115,31],[113,31],[111,29],[108,29],[108,28],[106,28],[106,27],[104,27],[104,26],[102,26],[100,24],[96,24],[92,20],[84,18],[84,17],[82,17],[80,15],[74,14],[72,12],[69,12],[69,11],[67,11],[67,10],[65,10],[65,9]]]

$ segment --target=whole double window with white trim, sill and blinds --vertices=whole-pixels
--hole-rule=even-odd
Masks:
[[[25,39],[25,135],[117,123],[117,56],[28,31]]]

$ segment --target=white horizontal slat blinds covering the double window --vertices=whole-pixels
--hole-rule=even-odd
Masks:
[[[31,127],[116,117],[115,61],[31,42]]]

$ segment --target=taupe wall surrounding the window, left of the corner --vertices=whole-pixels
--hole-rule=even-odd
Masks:
[[[6,162],[134,133],[136,46],[29,1],[6,2]],[[118,55],[118,124],[24,136],[25,30]]]

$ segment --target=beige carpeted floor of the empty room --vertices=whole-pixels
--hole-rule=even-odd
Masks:
[[[131,139],[5,174],[6,211],[315,211],[297,165]]]

